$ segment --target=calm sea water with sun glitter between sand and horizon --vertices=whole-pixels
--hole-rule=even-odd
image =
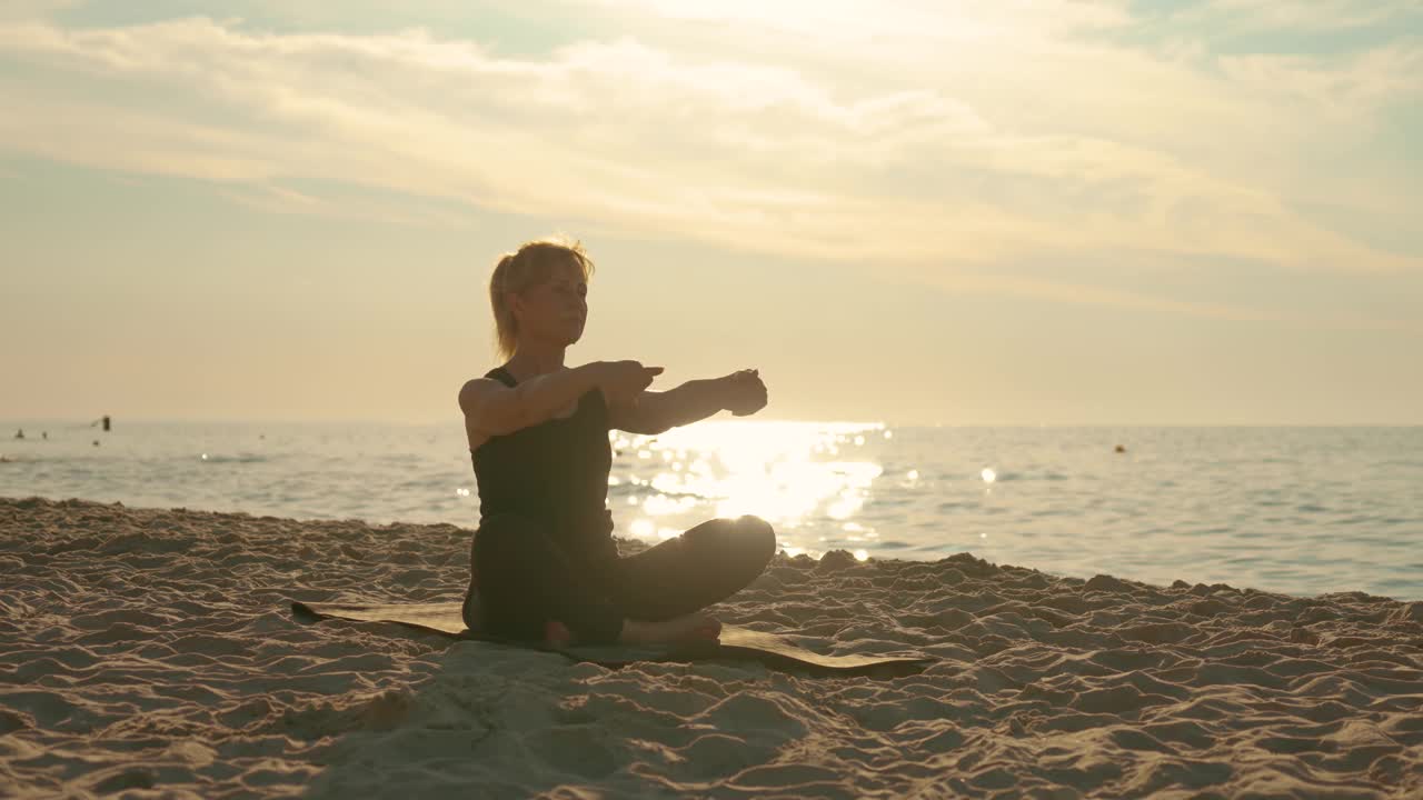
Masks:
[[[4,497],[478,522],[460,420],[115,420],[107,433],[64,421],[4,424]],[[9,438],[20,427],[27,438]],[[610,438],[618,534],[649,542],[710,517],[757,514],[791,554],[841,548],[933,559],[969,551],[1081,578],[1423,599],[1420,427],[709,420]]]

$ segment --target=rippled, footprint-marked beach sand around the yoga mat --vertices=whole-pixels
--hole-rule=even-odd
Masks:
[[[1423,797],[1423,602],[780,554],[717,606],[895,679],[287,611],[458,599],[470,537],[0,498],[0,796]]]

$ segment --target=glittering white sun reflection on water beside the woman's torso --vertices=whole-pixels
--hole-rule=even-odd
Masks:
[[[808,527],[872,542],[878,534],[848,520],[884,473],[865,444],[888,434],[882,423],[761,420],[706,421],[656,437],[612,431],[618,460],[608,485],[626,493],[633,515],[619,527],[642,540],[669,538],[702,518],[754,514],[776,527],[791,555],[807,552],[797,540],[808,538]]]

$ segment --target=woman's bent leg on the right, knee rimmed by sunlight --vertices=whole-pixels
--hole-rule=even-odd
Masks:
[[[700,611],[746,588],[776,555],[776,531],[758,517],[707,520],[618,561],[613,599],[630,619]]]

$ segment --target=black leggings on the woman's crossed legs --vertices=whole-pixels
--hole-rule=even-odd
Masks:
[[[623,619],[662,621],[700,611],[754,581],[776,555],[776,532],[757,517],[707,520],[591,574],[536,522],[495,514],[471,545],[464,618],[471,629],[538,641],[549,621],[582,643],[618,641]],[[471,599],[478,599],[478,611]]]

